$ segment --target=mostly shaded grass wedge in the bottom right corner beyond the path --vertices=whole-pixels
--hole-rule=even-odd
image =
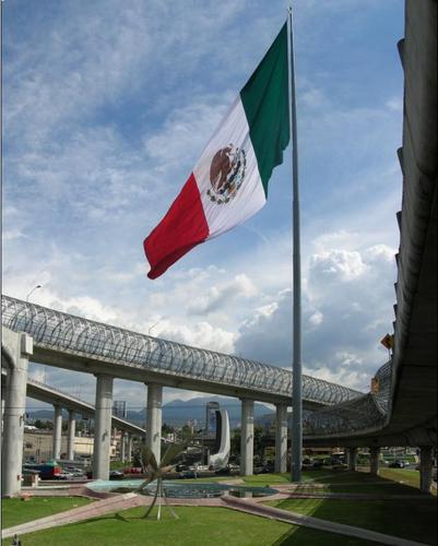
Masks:
[[[268,505],[401,538],[437,544],[437,503],[434,498],[402,501],[287,499]]]

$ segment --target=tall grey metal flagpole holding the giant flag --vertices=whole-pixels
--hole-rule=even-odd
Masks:
[[[301,480],[303,458],[303,379],[301,379],[301,253],[299,222],[299,183],[298,183],[298,138],[295,90],[294,32],[292,24],[292,5],[288,8],[287,23],[289,27],[289,99],[291,99],[291,135],[293,165],[293,364],[292,364],[292,480]]]

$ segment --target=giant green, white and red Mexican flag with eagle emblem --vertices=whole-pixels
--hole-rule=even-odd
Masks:
[[[200,242],[228,232],[267,202],[289,141],[287,25],[233,103],[187,182],[144,239],[156,278]]]

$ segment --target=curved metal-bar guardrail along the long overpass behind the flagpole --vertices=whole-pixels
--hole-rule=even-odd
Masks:
[[[86,355],[159,373],[292,396],[292,371],[123,330],[2,296],[2,323],[26,332],[36,347]],[[363,393],[303,376],[303,400],[339,404]]]

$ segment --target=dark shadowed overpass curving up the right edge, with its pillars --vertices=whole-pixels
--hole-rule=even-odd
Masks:
[[[407,0],[403,146],[398,151],[403,202],[394,306],[394,348],[376,373],[376,390],[316,412],[306,446],[422,448],[422,488],[428,490],[437,446],[437,2]]]

